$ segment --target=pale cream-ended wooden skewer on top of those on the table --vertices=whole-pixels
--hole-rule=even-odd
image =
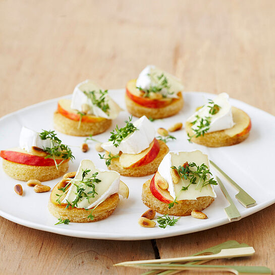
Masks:
[[[249,247],[222,249],[221,252],[219,252],[217,254],[212,254],[212,255],[141,260],[141,261],[128,261],[128,262],[117,263],[115,265],[116,266],[133,266],[133,265],[136,266],[136,265],[140,265],[140,264],[149,264],[149,263],[171,263],[171,262],[175,263],[175,262],[185,262],[185,261],[212,260],[212,259],[251,256],[254,253],[255,253],[254,248],[249,246]]]

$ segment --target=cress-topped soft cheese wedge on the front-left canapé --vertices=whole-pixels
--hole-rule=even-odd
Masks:
[[[98,203],[103,202],[105,199],[107,199],[109,196],[118,193],[119,187],[120,187],[120,174],[115,171],[105,171],[101,169],[97,169],[94,166],[94,163],[90,159],[83,159],[80,162],[80,166],[77,170],[75,179],[81,180],[82,179],[82,173],[85,170],[90,170],[88,174],[85,176],[85,179],[90,178],[94,173],[98,172],[98,175],[96,176],[97,179],[101,180],[99,183],[94,183],[95,184],[95,194],[94,198],[85,198],[84,196],[79,200],[77,203],[77,208],[91,208],[96,206]],[[76,185],[79,186],[79,182],[75,181],[74,182]],[[91,187],[87,187],[83,185],[83,188],[85,188],[84,192],[87,194],[92,190]],[[62,201],[63,203],[72,203],[76,199],[76,192],[77,192],[77,187],[72,184],[68,190],[68,193],[64,200]]]

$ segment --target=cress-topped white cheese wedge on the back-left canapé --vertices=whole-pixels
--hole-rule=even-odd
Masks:
[[[95,96],[98,99],[100,97],[99,90],[104,91],[100,86],[91,80],[85,80],[79,83],[76,85],[73,92],[71,108],[82,112],[82,105],[88,104],[90,107],[90,111],[87,113],[88,115],[94,115],[96,117],[111,120],[117,118],[119,113],[122,111],[122,108],[109,95],[105,95],[105,102],[109,105],[109,109],[107,113],[105,113],[101,108],[94,105],[91,100],[84,94],[84,91],[95,91]]]

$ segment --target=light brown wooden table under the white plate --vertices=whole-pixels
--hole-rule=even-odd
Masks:
[[[227,92],[275,115],[274,33],[272,0],[2,0],[0,115],[70,94],[87,78],[124,87],[147,64],[180,77],[187,91]],[[274,217],[272,205],[237,223],[156,240],[155,247],[60,236],[0,218],[0,273],[138,274],[112,265],[188,255],[231,239],[257,252],[231,262],[275,271]]]

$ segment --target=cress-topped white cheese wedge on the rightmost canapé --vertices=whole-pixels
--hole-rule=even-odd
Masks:
[[[214,104],[217,104],[220,107],[219,111],[215,115],[209,114],[209,104],[205,104],[187,121],[195,121],[196,116],[199,116],[200,118],[210,117],[210,126],[207,133],[232,128],[235,125],[235,123],[233,121],[232,108],[229,103],[229,95],[227,93],[220,93],[214,98],[213,102]],[[191,128],[195,130],[198,125],[199,120]]]

